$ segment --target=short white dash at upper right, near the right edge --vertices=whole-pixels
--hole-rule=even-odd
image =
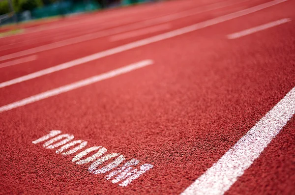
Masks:
[[[255,33],[255,32],[258,32],[258,31],[261,31],[261,30],[265,30],[267,28],[275,27],[275,26],[278,26],[278,25],[281,25],[281,24],[284,24],[284,23],[287,23],[287,22],[290,22],[290,21],[291,21],[291,18],[284,18],[284,19],[277,20],[277,21],[274,21],[274,22],[270,22],[270,23],[267,23],[267,24],[264,24],[264,25],[256,26],[256,27],[253,27],[253,28],[248,28],[246,30],[242,30],[242,31],[239,31],[239,32],[229,34],[228,38],[229,39],[236,39],[236,38],[246,36],[248,34],[252,34],[252,33]]]

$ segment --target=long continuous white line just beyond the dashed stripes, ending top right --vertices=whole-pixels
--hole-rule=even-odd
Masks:
[[[179,28],[179,29],[176,29],[176,30],[165,32],[163,34],[159,34],[159,35],[152,36],[152,37],[149,37],[149,38],[146,38],[146,39],[131,42],[131,43],[128,43],[128,44],[125,44],[125,45],[122,45],[122,46],[119,46],[119,47],[116,47],[116,48],[113,48],[113,49],[105,50],[103,52],[98,52],[98,53],[92,54],[90,56],[85,56],[85,57],[75,59],[75,60],[72,60],[72,61],[69,61],[69,62],[66,62],[66,63],[62,63],[62,64],[59,64],[59,65],[56,65],[56,66],[52,66],[50,68],[46,68],[44,70],[40,70],[40,71],[31,73],[29,75],[25,75],[25,76],[22,76],[22,77],[19,77],[19,78],[16,78],[16,79],[12,79],[10,81],[0,83],[0,88],[11,85],[11,84],[17,84],[17,83],[24,82],[24,81],[27,81],[27,80],[30,80],[30,79],[34,79],[36,77],[41,77],[43,75],[47,75],[47,74],[50,74],[50,73],[53,73],[53,72],[57,72],[59,70],[63,70],[63,69],[66,69],[66,68],[69,68],[69,67],[72,67],[72,66],[76,66],[76,65],[79,65],[79,64],[82,64],[82,63],[86,63],[86,62],[89,62],[89,61],[92,61],[92,60],[95,60],[95,59],[99,59],[99,58],[102,58],[102,57],[105,57],[105,56],[111,56],[111,55],[114,55],[114,54],[118,54],[120,52],[124,52],[124,51],[127,51],[127,50],[131,50],[131,49],[134,49],[134,48],[144,46],[144,45],[148,45],[148,44],[151,44],[151,43],[154,43],[154,42],[165,40],[165,39],[175,37],[175,36],[178,36],[178,35],[181,35],[181,34],[185,34],[185,33],[188,33],[188,32],[192,32],[192,31],[195,31],[195,30],[198,30],[198,29],[201,29],[201,28],[206,28],[206,27],[209,27],[209,26],[212,26],[212,25],[216,25],[216,24],[219,24],[219,23],[222,23],[222,22],[225,22],[225,21],[229,21],[229,20],[244,16],[244,15],[247,15],[247,14],[262,10],[262,9],[265,9],[267,7],[276,5],[276,4],[284,2],[284,1],[287,1],[287,0],[269,1],[269,2],[260,4],[260,5],[254,6],[254,7],[250,7],[250,8],[240,10],[240,11],[237,11],[237,12],[234,12],[234,13],[231,13],[231,14],[220,16],[220,17],[210,19],[210,20],[207,20],[207,21],[204,21],[204,22],[200,22],[200,23],[197,23],[197,24],[194,24],[194,25],[191,25],[191,26],[187,26],[187,27],[184,27],[184,28]]]

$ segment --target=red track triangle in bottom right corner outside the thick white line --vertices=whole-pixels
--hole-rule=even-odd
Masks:
[[[294,193],[295,117],[267,146],[225,195],[265,195]]]

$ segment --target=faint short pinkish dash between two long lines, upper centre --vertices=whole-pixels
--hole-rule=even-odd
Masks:
[[[154,26],[154,27],[134,30],[131,32],[125,32],[125,33],[111,36],[110,41],[118,41],[118,40],[136,37],[136,36],[140,36],[140,35],[144,35],[144,34],[167,30],[167,29],[170,29],[171,27],[172,27],[171,24],[164,24],[164,25],[158,25],[158,26]]]

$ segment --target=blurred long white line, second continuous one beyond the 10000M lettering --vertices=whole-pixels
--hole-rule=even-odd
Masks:
[[[244,1],[248,1],[248,0],[244,0]],[[238,3],[241,3],[241,2],[236,2],[236,3],[233,3],[231,5],[238,4]],[[137,29],[137,28],[143,28],[143,27],[147,27],[147,26],[151,26],[151,25],[155,25],[155,24],[166,23],[166,22],[169,22],[169,21],[177,20],[177,19],[180,19],[180,18],[185,18],[185,17],[188,17],[188,16],[193,16],[193,15],[200,14],[200,13],[203,13],[203,12],[206,12],[206,11],[219,9],[219,8],[227,7],[227,6],[231,6],[231,5],[225,4],[225,5],[222,5],[222,6],[219,6],[219,7],[207,8],[207,9],[206,8],[202,9],[202,8],[199,7],[199,8],[194,8],[194,9],[189,10],[189,11],[184,11],[184,12],[180,12],[180,13],[176,13],[176,14],[171,14],[171,15],[160,17],[160,18],[149,19],[147,21],[140,21],[140,22],[137,22],[137,23],[134,23],[134,24],[129,24],[129,25],[122,26],[122,27],[116,27],[116,28],[111,28],[111,29],[98,31],[98,32],[95,32],[95,33],[84,34],[84,35],[81,35],[81,36],[65,39],[65,40],[62,40],[62,41],[57,41],[57,42],[54,42],[54,43],[38,46],[38,47],[35,47],[35,48],[30,48],[28,50],[8,54],[8,55],[5,55],[5,56],[0,56],[0,61],[15,58],[15,57],[20,57],[20,56],[27,56],[27,55],[35,54],[35,53],[38,53],[38,52],[44,52],[44,51],[47,51],[47,50],[52,50],[52,49],[56,49],[56,48],[63,47],[63,46],[68,46],[68,45],[72,45],[72,44],[76,44],[76,43],[81,43],[81,42],[84,42],[84,41],[89,41],[89,40],[109,36],[109,35],[120,33],[120,32],[125,32],[125,31],[128,31],[128,30],[133,30],[133,29]]]

